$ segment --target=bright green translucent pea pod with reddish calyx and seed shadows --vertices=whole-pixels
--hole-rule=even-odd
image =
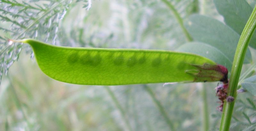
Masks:
[[[37,63],[46,75],[73,84],[220,81],[225,76],[212,60],[191,53],[61,47],[33,39],[19,42],[33,48]]]

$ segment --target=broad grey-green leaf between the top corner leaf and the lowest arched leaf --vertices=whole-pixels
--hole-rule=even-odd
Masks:
[[[203,15],[191,15],[185,23],[188,32],[195,41],[209,44],[233,61],[239,35],[220,21]],[[251,52],[247,49],[244,63],[252,61]]]

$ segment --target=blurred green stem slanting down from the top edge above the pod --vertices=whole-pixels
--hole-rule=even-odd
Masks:
[[[180,24],[180,27],[184,33],[184,35],[186,36],[187,41],[192,41],[192,37],[189,35],[187,29],[185,28],[184,24],[183,24],[183,19],[180,17],[180,14],[177,12],[177,10],[174,8],[174,6],[171,4],[171,2],[169,2],[168,0],[162,0],[162,2],[164,2],[164,4],[166,4],[169,9],[173,12],[174,17],[177,19],[178,23]]]

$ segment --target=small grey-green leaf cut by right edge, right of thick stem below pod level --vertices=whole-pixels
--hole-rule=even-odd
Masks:
[[[256,96],[256,75],[244,79],[241,85],[243,89],[247,90],[253,96]]]

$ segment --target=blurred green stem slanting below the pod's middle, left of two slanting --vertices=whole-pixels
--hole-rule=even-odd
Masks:
[[[111,99],[113,100],[115,106],[117,107],[117,109],[120,111],[121,115],[122,115],[122,118],[124,120],[124,123],[126,124],[127,128],[129,131],[132,131],[132,127],[129,123],[129,121],[127,120],[127,118],[125,117],[125,111],[124,109],[122,108],[121,104],[118,102],[114,92],[108,87],[108,86],[105,86],[105,89],[108,91],[108,94],[109,96],[111,97]]]

